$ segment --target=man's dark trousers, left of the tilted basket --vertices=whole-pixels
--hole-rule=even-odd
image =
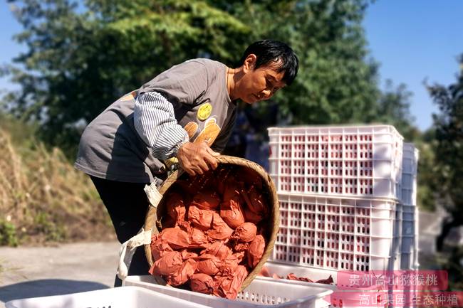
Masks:
[[[119,242],[136,235],[145,224],[149,202],[143,188],[144,183],[125,183],[110,181],[90,176],[100,198],[108,210]],[[143,246],[138,247],[133,255],[128,275],[147,275],[150,265],[145,257]],[[114,287],[120,287],[122,280],[116,275]]]

